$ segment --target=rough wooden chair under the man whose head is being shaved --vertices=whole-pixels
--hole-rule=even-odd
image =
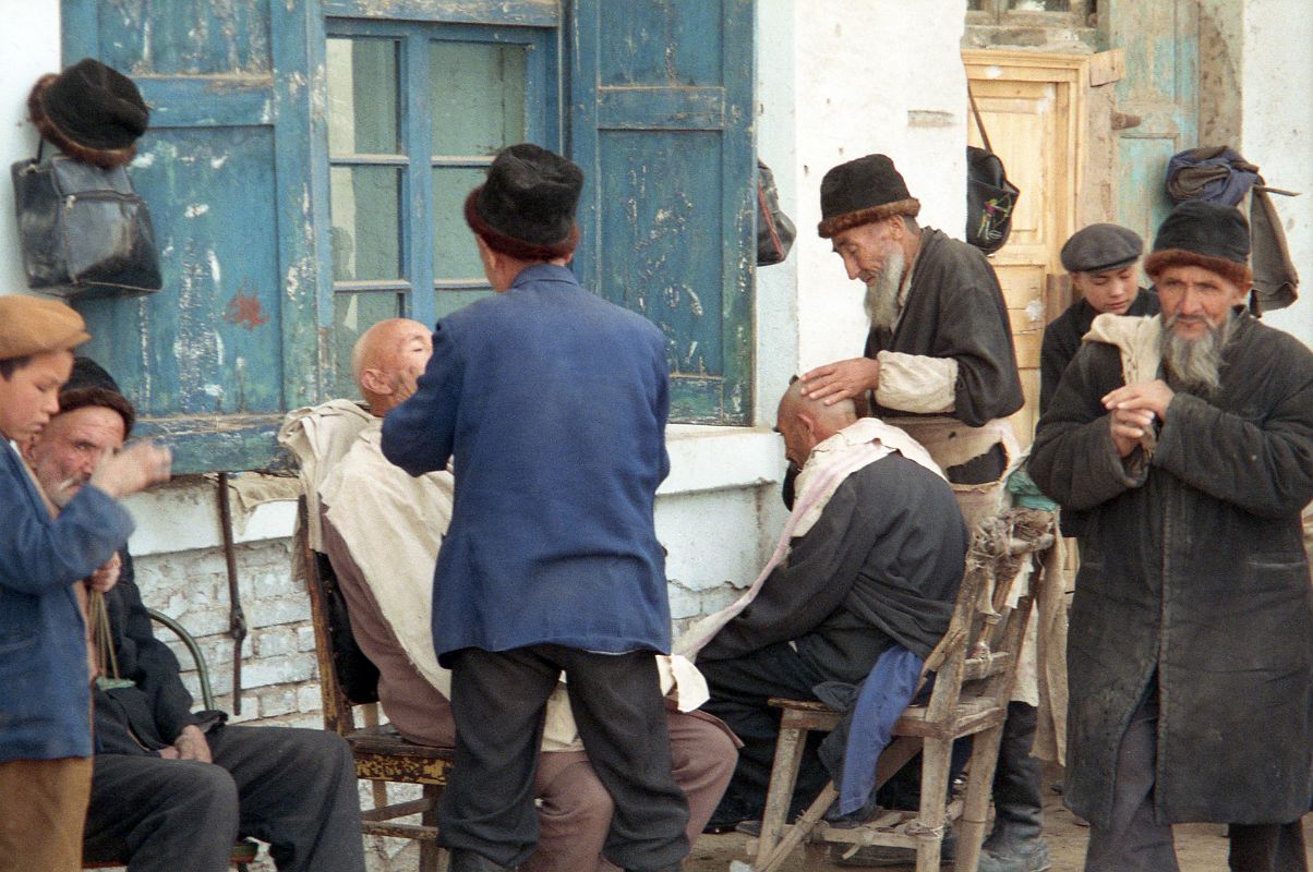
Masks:
[[[957,827],[957,872],[974,872],[985,838],[994,767],[1007,717],[1008,697],[1025,637],[1032,598],[1023,596],[1008,613],[1004,607],[1011,580],[1024,562],[1039,571],[1037,557],[1054,544],[1052,512],[1012,510],[981,524],[966,559],[952,622],[926,661],[936,674],[926,705],[909,707],[898,718],[893,739],[880,756],[877,785],[922,755],[920,809],[885,812],[857,827],[832,827],[821,818],[838,791],[831,781],[811,806],[786,826],[785,818],[797,781],[807,733],[832,730],[839,713],[815,701],[771,700],[783,709],[771,783],[767,789],[762,835],[755,846],[755,872],[775,872],[802,843],[831,846],[851,855],[871,846],[916,851],[916,872],[939,869],[940,848],[949,817],[961,813]],[[1033,580],[1033,579],[1032,579]],[[995,583],[997,582],[997,583]],[[1033,590],[1033,584],[1032,584]],[[965,802],[945,802],[955,739],[974,735]],[[735,868],[743,869],[743,864]]]

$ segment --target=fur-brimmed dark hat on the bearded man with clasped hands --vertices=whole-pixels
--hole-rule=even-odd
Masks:
[[[1201,267],[1237,285],[1251,285],[1245,215],[1205,200],[1187,200],[1173,209],[1158,227],[1145,272],[1157,281],[1169,267]]]

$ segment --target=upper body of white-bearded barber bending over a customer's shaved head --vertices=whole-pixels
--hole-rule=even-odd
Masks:
[[[1015,456],[1002,419],[1024,402],[1007,305],[985,255],[918,226],[919,211],[885,155],[825,175],[818,231],[867,285],[871,332],[863,357],[805,373],[805,390],[859,404],[869,391],[872,414],[926,445],[951,483],[998,482]]]

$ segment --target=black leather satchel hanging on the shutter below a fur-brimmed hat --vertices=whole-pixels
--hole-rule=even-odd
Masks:
[[[160,289],[150,210],[123,167],[38,151],[11,175],[30,288],[68,299]]]

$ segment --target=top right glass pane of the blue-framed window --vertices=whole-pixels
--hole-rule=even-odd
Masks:
[[[492,155],[524,142],[523,46],[431,42],[435,155]]]

